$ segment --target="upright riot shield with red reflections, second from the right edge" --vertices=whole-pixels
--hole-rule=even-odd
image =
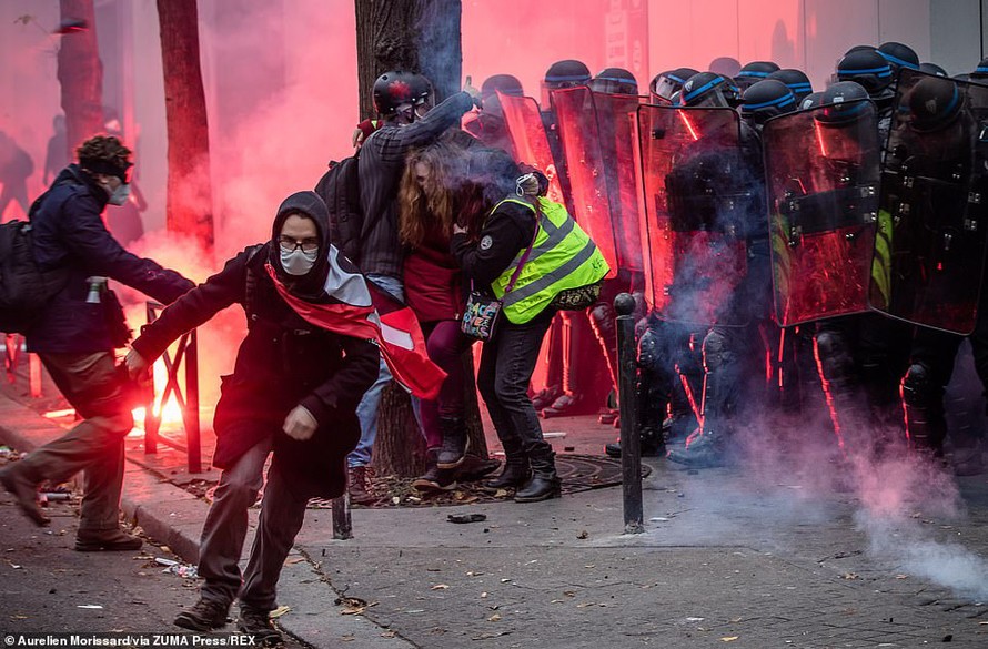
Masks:
[[[780,115],[762,140],[776,322],[867,311],[879,181],[874,104]]]

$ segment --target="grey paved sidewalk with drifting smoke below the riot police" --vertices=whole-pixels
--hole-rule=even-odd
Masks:
[[[594,426],[565,445],[613,438]],[[60,433],[0,395],[0,443],[28,450]],[[184,456],[130,446],[124,511],[193,561],[208,506],[177,486],[190,477]],[[332,539],[329,510],[310,510],[282,575],[291,611],[279,625],[313,647],[988,646],[985,475],[888,465],[835,490],[828,466],[784,457],[703,471],[648,462],[636,536],[619,534],[618,488],[354,509],[345,541]],[[452,524],[455,513],[486,520]],[[341,596],[366,607],[334,604]]]

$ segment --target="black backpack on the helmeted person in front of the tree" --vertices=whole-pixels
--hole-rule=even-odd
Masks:
[[[360,206],[357,156],[330,162],[330,169],[315,184],[315,193],[330,210],[330,243],[360,265],[360,237],[364,214]]]

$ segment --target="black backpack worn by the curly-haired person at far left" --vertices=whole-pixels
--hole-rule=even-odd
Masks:
[[[29,214],[38,211],[47,195],[34,201]],[[34,261],[29,222],[0,225],[0,332],[26,333],[68,281],[68,268],[42,271]]]

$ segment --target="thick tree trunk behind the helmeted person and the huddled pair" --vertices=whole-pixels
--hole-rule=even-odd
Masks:
[[[460,89],[460,0],[354,0],[356,60],[361,118],[375,116],[374,81],[389,70],[425,74],[436,101]],[[464,354],[468,381],[466,420],[471,455],[487,457],[474,385],[473,356]],[[381,475],[413,477],[425,468],[425,443],[412,415],[411,402],[400,388],[384,392],[374,443],[374,468]]]

